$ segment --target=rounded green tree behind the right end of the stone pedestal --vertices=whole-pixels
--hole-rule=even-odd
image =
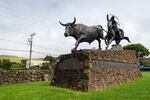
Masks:
[[[149,50],[142,44],[130,44],[123,47],[124,50],[135,50],[137,53],[140,52],[140,57],[148,56],[150,54]]]

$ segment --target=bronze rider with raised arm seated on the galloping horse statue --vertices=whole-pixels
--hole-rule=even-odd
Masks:
[[[119,31],[119,28],[117,26],[119,24],[115,21],[115,16],[112,16],[111,19],[109,19],[109,16],[107,15],[107,21],[108,21],[107,27],[112,31],[113,36],[115,36],[116,33],[118,33],[120,38],[123,38],[121,35],[121,32]]]

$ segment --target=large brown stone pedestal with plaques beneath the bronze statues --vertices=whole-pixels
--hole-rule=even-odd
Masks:
[[[134,51],[80,50],[60,56],[52,85],[94,91],[141,76]]]

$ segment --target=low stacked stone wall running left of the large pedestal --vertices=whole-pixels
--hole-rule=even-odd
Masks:
[[[51,80],[52,76],[51,70],[1,70],[0,85]]]

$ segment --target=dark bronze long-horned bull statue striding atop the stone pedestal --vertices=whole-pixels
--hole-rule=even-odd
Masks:
[[[62,26],[65,26],[64,36],[72,36],[76,39],[75,47],[72,51],[75,51],[80,43],[88,42],[91,44],[94,40],[97,40],[99,43],[99,49],[101,49],[101,39],[104,39],[103,28],[101,25],[96,26],[86,26],[83,24],[75,24],[76,18],[71,23],[63,24],[59,21]]]

